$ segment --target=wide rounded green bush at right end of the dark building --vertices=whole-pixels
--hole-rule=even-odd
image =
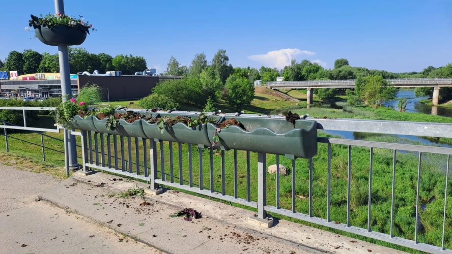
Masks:
[[[164,81],[152,89],[153,94],[171,98],[174,102],[194,104],[202,107],[207,100],[207,92],[199,78],[183,78]]]

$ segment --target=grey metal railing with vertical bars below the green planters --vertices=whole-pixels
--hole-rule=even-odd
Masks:
[[[186,112],[176,111],[175,113]],[[224,115],[233,116],[232,114]],[[251,114],[241,114],[236,117],[240,120],[241,116],[268,117]],[[319,130],[452,138],[452,124],[447,123],[358,119],[316,120]],[[197,195],[256,208],[257,215],[261,219],[265,219],[267,212],[271,212],[273,215],[285,215],[421,251],[452,253],[450,240],[448,240],[450,232],[446,230],[450,227],[451,220],[446,210],[448,196],[450,196],[447,185],[452,148],[318,137],[319,153],[315,157],[291,160],[274,154],[240,150],[224,151],[198,147],[195,151],[194,144],[157,142],[97,132],[81,131],[73,134],[81,137],[82,170],[86,172],[97,169],[148,181],[154,189],[163,185],[170,186]],[[385,170],[383,166],[377,164],[380,163],[382,150],[388,151],[391,157],[384,166],[387,167],[386,182],[389,185],[384,191],[387,193],[385,198],[388,202],[388,210],[386,214],[381,213],[381,210],[378,210],[379,214],[375,214],[373,207],[380,205],[375,199],[382,194],[375,193],[375,189],[379,188],[375,186],[378,180],[374,180],[373,177],[377,177]],[[356,173],[354,170],[357,166],[352,163],[352,154],[363,152],[368,152],[369,161],[359,161],[358,164],[361,168],[363,164],[369,165],[369,167],[365,166],[369,177],[366,186],[360,187],[365,188],[367,194],[365,202],[360,207],[354,207],[356,189],[353,175]],[[347,156],[343,166],[336,163],[341,154]],[[438,157],[432,157],[436,155],[445,156],[447,161],[443,163],[445,171],[438,176],[441,181],[445,180],[444,196],[436,197],[438,202],[442,202],[444,198],[444,209],[437,209],[435,213],[438,220],[442,219],[441,227],[438,226],[439,228],[436,229],[438,235],[432,240],[419,226],[425,223],[425,216],[427,216],[426,211],[421,208],[420,196],[424,191],[421,185],[423,178],[430,177],[429,171],[435,170],[430,164],[438,161]],[[416,166],[409,168],[416,176],[413,177],[413,185],[406,183],[406,188],[411,189],[415,197],[402,206],[401,198],[398,196],[400,189],[396,188],[396,183],[401,181],[399,174],[404,174],[398,168],[399,160],[406,156],[415,157],[416,161]],[[322,165],[319,160],[324,160],[324,168],[319,169],[319,166],[316,166]],[[274,177],[266,172],[267,161],[276,164],[277,170]],[[280,165],[289,166],[287,168],[290,175],[281,175],[278,170]],[[428,170],[426,165],[429,167]],[[340,171],[341,167],[344,167],[343,173]],[[301,177],[302,174],[306,174],[303,176],[305,178]],[[318,174],[325,177],[325,182]],[[340,180],[344,181],[343,185],[336,183]],[[304,196],[300,194],[300,188],[306,188],[305,191],[301,191],[301,193],[305,192]],[[325,195],[325,197],[322,196],[325,202],[315,197],[316,188],[322,191],[325,189],[325,193],[322,193]],[[337,193],[341,192],[345,195],[344,199],[337,200]],[[405,196],[404,199],[406,199]],[[345,210],[344,214],[341,215],[338,209]],[[365,209],[365,223],[357,222],[356,209]],[[409,218],[410,221],[412,220],[411,226],[415,225],[413,232],[401,231],[400,227],[403,225],[398,221],[401,209],[413,209],[413,215]],[[387,220],[387,229],[375,230],[374,220],[381,219],[382,216]],[[438,224],[440,224],[439,221]]]

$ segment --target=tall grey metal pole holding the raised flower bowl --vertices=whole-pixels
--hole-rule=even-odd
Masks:
[[[55,13],[64,14],[64,1],[63,0],[54,0],[55,3]],[[68,46],[66,45],[58,45],[58,57],[60,59],[60,77],[61,77],[61,97],[63,101],[72,95],[71,90],[71,76],[69,71],[69,52]],[[77,163],[77,150],[75,145],[75,136],[68,133],[67,134],[67,142],[69,153],[69,167],[71,168],[80,168],[80,165]]]

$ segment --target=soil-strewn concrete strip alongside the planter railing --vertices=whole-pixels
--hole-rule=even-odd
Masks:
[[[91,218],[118,233],[172,253],[403,253],[286,220],[270,229],[250,225],[253,212],[176,191],[117,198],[120,192],[149,185],[96,173],[76,173],[40,195],[50,204]],[[170,217],[183,208],[202,212],[188,222]]]

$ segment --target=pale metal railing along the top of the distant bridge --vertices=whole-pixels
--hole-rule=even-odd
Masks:
[[[271,81],[261,82],[257,86],[279,88],[353,88],[355,79],[348,80],[312,80],[312,81]],[[452,78],[425,79],[386,79],[394,86],[423,87],[423,86],[452,86]]]

